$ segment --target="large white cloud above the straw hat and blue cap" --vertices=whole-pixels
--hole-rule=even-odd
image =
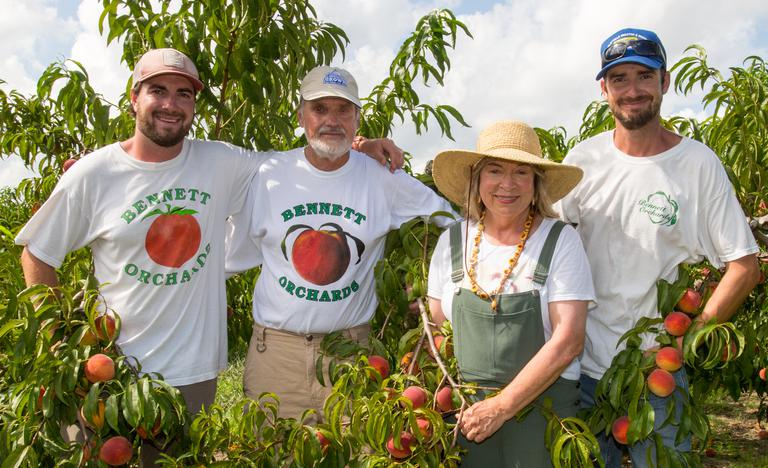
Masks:
[[[586,106],[600,99],[594,76],[599,69],[598,48],[610,33],[622,27],[656,31],[674,63],[684,49],[699,43],[707,48],[710,65],[727,72],[750,54],[765,55],[759,24],[768,16],[765,2],[715,4],[683,0],[637,2],[582,0],[508,0],[486,12],[460,16],[474,35],[461,38],[451,54],[453,68],[445,88],[430,88],[426,102],[448,103],[458,108],[472,129],[454,128],[456,142],[439,131],[416,136],[410,123],[395,132],[395,139],[410,150],[414,166],[423,167],[437,151],[472,148],[477,133],[491,121],[518,118],[535,126],[566,127],[570,135]],[[352,44],[354,47],[355,44]],[[662,112],[670,115],[689,109],[701,113],[701,93],[669,93]],[[693,110],[695,109],[695,110]]]

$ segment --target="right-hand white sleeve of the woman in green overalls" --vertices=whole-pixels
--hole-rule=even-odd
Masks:
[[[549,302],[594,301],[595,286],[581,238],[571,226],[563,227],[547,278]]]

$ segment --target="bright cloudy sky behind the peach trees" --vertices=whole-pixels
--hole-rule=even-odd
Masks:
[[[422,102],[449,104],[470,128],[452,126],[455,141],[435,122],[416,135],[410,122],[393,139],[421,171],[442,150],[475,146],[490,123],[518,119],[536,127],[578,131],[587,105],[601,99],[594,77],[600,43],[623,27],[655,31],[675,63],[691,44],[703,46],[710,66],[727,73],[749,55],[768,56],[765,0],[313,0],[318,18],[344,29],[350,38],[346,61],[333,63],[357,79],[361,95],[387,74],[391,60],[418,19],[449,8],[474,38],[459,36],[450,52],[445,86],[417,88]],[[37,78],[56,60],[86,67],[91,84],[116,102],[130,71],[120,63],[119,45],[106,47],[98,32],[99,0],[0,0],[0,84],[5,91],[34,92]],[[703,118],[702,94],[667,94],[662,115]],[[0,159],[0,187],[30,174],[19,159]]]

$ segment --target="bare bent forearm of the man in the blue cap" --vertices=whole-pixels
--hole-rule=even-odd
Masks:
[[[697,320],[704,323],[717,318],[718,323],[730,319],[760,280],[757,255],[747,255],[725,264],[725,274],[720,279],[712,297],[707,301]]]

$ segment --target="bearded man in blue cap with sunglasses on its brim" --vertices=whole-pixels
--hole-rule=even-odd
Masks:
[[[584,178],[558,204],[563,219],[581,234],[597,293],[581,360],[585,407],[594,405],[595,387],[618,352],[619,338],[641,317],[659,316],[656,282],[675,280],[680,263],[706,258],[726,269],[696,323],[728,320],[759,275],[757,245],[717,155],[661,124],[670,74],[657,35],[622,29],[603,42],[601,59],[596,79],[616,129],[566,156],[563,163],[581,167]],[[653,337],[644,345],[653,347]],[[687,391],[685,371],[675,379]],[[680,393],[675,395],[681,403]],[[665,445],[690,450],[690,439],[675,445],[676,425],[660,428],[667,400],[651,398]],[[681,405],[676,406],[679,421]],[[620,448],[612,438],[599,439],[606,466],[618,467]],[[646,441],[630,447],[633,466],[646,466],[650,446]]]

